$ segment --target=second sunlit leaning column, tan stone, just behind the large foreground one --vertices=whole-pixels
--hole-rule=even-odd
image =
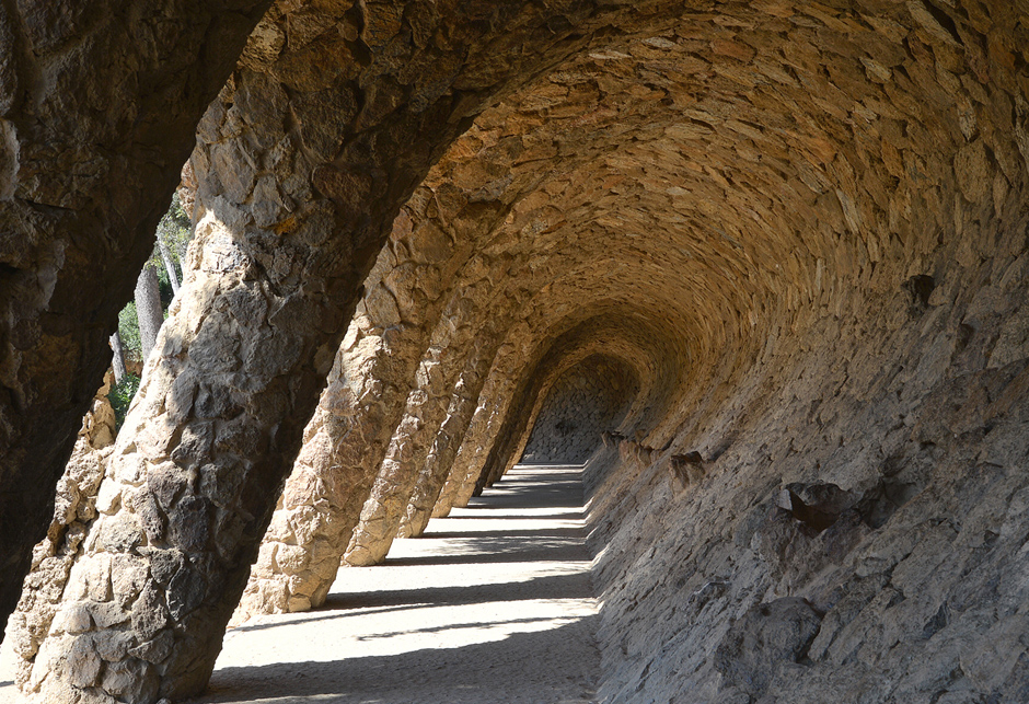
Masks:
[[[424,321],[435,322],[431,303],[416,303],[427,300],[417,273],[432,264],[400,264],[384,252],[367,281],[234,622],[317,607],[336,577],[428,344]]]

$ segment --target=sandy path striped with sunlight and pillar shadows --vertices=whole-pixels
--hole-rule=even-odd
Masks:
[[[516,468],[424,538],[396,541],[385,565],[342,569],[322,609],[231,631],[193,702],[589,702],[599,656],[583,540],[578,470]],[[0,702],[13,693],[0,688]]]

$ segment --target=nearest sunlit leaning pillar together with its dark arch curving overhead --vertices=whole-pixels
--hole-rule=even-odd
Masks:
[[[581,44],[573,27],[590,32],[589,3],[567,9],[570,18],[528,4],[482,9],[474,20],[461,14],[459,24],[470,21],[440,35],[443,46],[419,34],[441,15],[384,3],[365,8],[359,28],[349,13],[302,8],[310,16],[297,23],[273,9],[254,35],[198,127],[190,273],[55,623],[99,609],[116,615],[84,633],[51,632],[32,681],[41,696],[95,686],[151,701],[203,688],[270,520],[268,496],[299,449],[397,209],[505,81]],[[555,22],[560,28],[536,33]],[[501,67],[497,56],[520,58]],[[310,70],[317,66],[334,69]],[[90,605],[91,574],[126,590]],[[97,638],[123,636],[132,655],[97,659]],[[81,648],[97,667],[76,673],[65,654]]]

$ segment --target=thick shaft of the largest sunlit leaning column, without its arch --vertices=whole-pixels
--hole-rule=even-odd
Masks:
[[[403,142],[403,170],[312,164],[328,148],[314,123],[299,136],[276,130],[287,112],[324,119],[320,101],[332,95],[297,86],[287,96],[247,70],[234,89],[200,126],[203,216],[190,272],[36,658],[28,684],[45,702],[149,703],[203,690],[360,281],[403,184],[427,169],[429,154],[409,145],[429,152],[448,137],[433,134],[446,113],[428,109],[389,126],[411,130],[391,142]],[[350,90],[344,83],[335,95],[339,119]],[[362,134],[374,139],[375,130]],[[269,151],[255,151],[263,145]],[[372,199],[373,192],[393,195]]]

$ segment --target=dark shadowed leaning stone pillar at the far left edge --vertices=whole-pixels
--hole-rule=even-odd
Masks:
[[[0,7],[0,627],[194,127],[269,4]]]

